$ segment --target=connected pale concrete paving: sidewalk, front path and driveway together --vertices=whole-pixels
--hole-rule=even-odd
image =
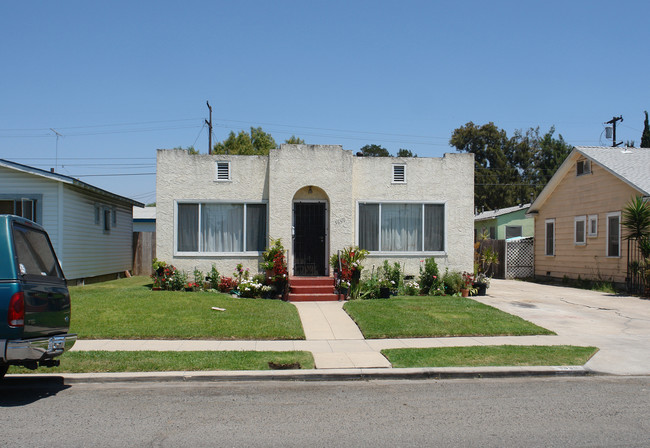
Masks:
[[[306,340],[79,340],[73,350],[303,350],[321,369],[386,369],[387,348],[470,345],[581,345],[601,350],[586,365],[600,373],[650,375],[650,301],[574,288],[492,280],[481,302],[520,316],[557,336],[364,339],[342,302],[298,302]],[[392,370],[392,369],[391,369]]]

